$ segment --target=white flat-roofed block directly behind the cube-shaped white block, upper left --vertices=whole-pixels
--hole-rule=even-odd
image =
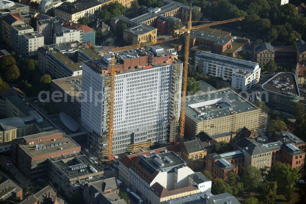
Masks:
[[[11,44],[13,50],[18,54],[21,51],[21,36],[22,34],[34,32],[34,29],[27,24],[11,25]]]

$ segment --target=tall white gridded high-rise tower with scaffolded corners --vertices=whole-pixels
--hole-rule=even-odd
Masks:
[[[107,145],[109,130],[109,74],[101,74],[102,60],[83,63],[82,126],[97,153]],[[96,67],[96,68],[95,68]],[[182,63],[175,60],[150,68],[128,69],[115,75],[113,154],[130,144],[162,144],[179,127]],[[91,97],[91,98],[90,98]],[[91,101],[90,101],[91,100]]]

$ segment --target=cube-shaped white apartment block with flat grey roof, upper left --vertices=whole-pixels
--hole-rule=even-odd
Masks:
[[[38,48],[44,46],[44,37],[37,31],[24,33],[21,36],[21,51],[25,59],[35,58],[38,55]]]

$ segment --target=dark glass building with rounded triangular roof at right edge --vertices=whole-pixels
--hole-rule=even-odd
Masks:
[[[298,89],[295,75],[290,72],[280,72],[271,77],[261,86],[261,97],[268,106],[276,110],[294,113],[293,106],[300,101],[300,91]]]

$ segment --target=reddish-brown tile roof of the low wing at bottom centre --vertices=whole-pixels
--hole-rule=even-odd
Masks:
[[[157,195],[159,198],[163,198],[163,197],[167,197],[170,195],[175,195],[175,194],[180,194],[183,192],[188,192],[188,191],[194,191],[197,190],[198,188],[195,186],[187,186],[184,188],[179,188],[179,189],[175,189],[172,191],[168,191],[165,187],[163,187],[162,185],[160,185],[158,182],[154,183],[151,186],[151,191],[153,191],[155,193],[155,195]]]

